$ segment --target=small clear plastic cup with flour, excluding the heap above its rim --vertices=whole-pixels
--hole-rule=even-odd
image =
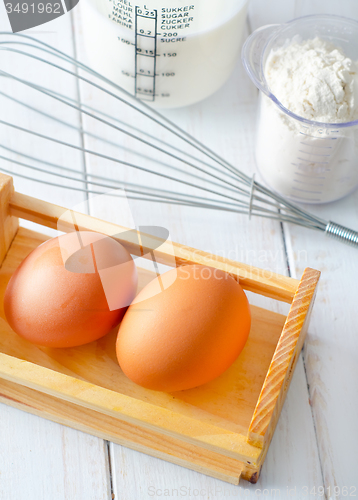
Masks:
[[[358,186],[358,120],[320,123],[285,108],[265,79],[272,50],[291,41],[320,37],[358,60],[358,22],[338,16],[314,15],[282,25],[264,26],[245,42],[242,60],[261,91],[255,156],[265,182],[276,192],[302,203],[326,203]]]

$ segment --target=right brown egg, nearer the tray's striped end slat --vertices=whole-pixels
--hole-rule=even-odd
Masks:
[[[229,368],[250,325],[248,300],[234,278],[210,267],[183,266],[149,283],[129,307],[118,332],[118,362],[143,387],[190,389]]]

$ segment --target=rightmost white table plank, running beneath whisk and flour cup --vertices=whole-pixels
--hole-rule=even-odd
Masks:
[[[287,12],[289,7],[291,11]],[[256,29],[271,22],[284,22],[289,16],[316,13],[358,19],[358,3],[354,0],[296,0],[272,5],[272,2],[253,0],[250,19]],[[358,228],[357,193],[334,204],[306,208],[327,220]],[[358,444],[357,367],[354,361],[358,350],[357,251],[296,226],[286,227],[285,234],[293,273],[299,276],[305,266],[322,271],[304,359],[325,492],[332,498],[357,495],[354,453]],[[301,256],[300,261],[297,255]]]

